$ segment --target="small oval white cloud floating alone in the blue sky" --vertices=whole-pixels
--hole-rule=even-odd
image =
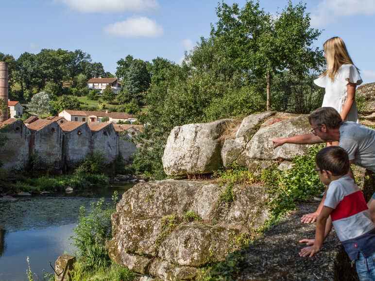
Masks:
[[[163,27],[147,17],[130,17],[104,27],[104,31],[122,37],[157,37],[163,34]]]

